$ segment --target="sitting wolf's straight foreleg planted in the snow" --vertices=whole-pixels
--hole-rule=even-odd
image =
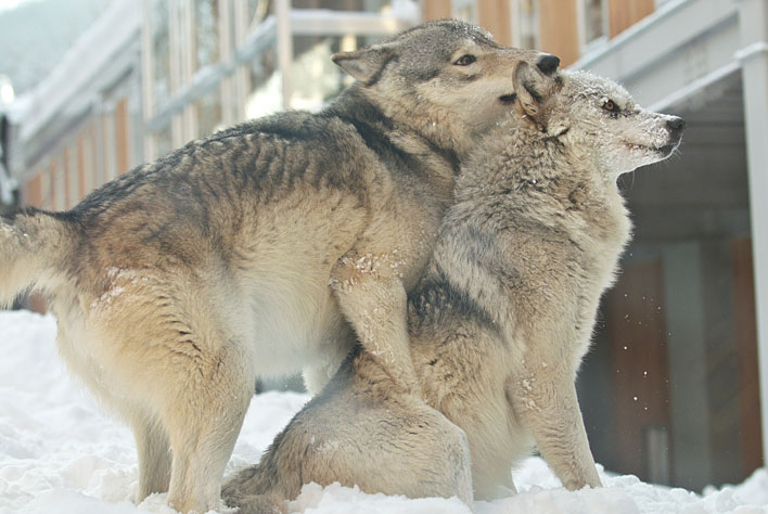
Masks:
[[[508,384],[508,397],[566,489],[600,487],[573,377],[566,365],[553,360],[526,364],[516,382]]]

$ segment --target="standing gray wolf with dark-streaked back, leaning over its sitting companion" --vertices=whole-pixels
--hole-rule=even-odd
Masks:
[[[519,63],[559,63],[451,21],[333,59],[357,81],[320,113],[192,141],[69,211],[0,224],[0,304],[49,296],[68,368],[133,429],[139,501],[218,506],[257,375],[305,368],[318,389],[357,337],[418,383],[406,294],[461,159],[511,108]]]

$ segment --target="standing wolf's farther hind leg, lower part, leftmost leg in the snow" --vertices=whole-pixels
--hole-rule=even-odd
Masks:
[[[139,490],[137,503],[154,492],[168,491],[170,483],[170,445],[156,421],[137,414],[132,421],[133,437],[139,454]]]

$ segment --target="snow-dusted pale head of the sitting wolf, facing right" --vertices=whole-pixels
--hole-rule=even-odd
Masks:
[[[541,95],[538,74],[525,65],[515,74],[517,108],[576,158],[612,178],[663,160],[677,149],[686,121],[637,105],[618,83],[587,72],[563,72],[556,94]]]

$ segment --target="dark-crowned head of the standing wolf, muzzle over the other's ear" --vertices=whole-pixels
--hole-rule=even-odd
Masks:
[[[512,108],[517,64],[550,80],[560,64],[554,55],[501,47],[458,21],[425,23],[333,61],[388,116],[427,136],[443,132],[459,151]]]

